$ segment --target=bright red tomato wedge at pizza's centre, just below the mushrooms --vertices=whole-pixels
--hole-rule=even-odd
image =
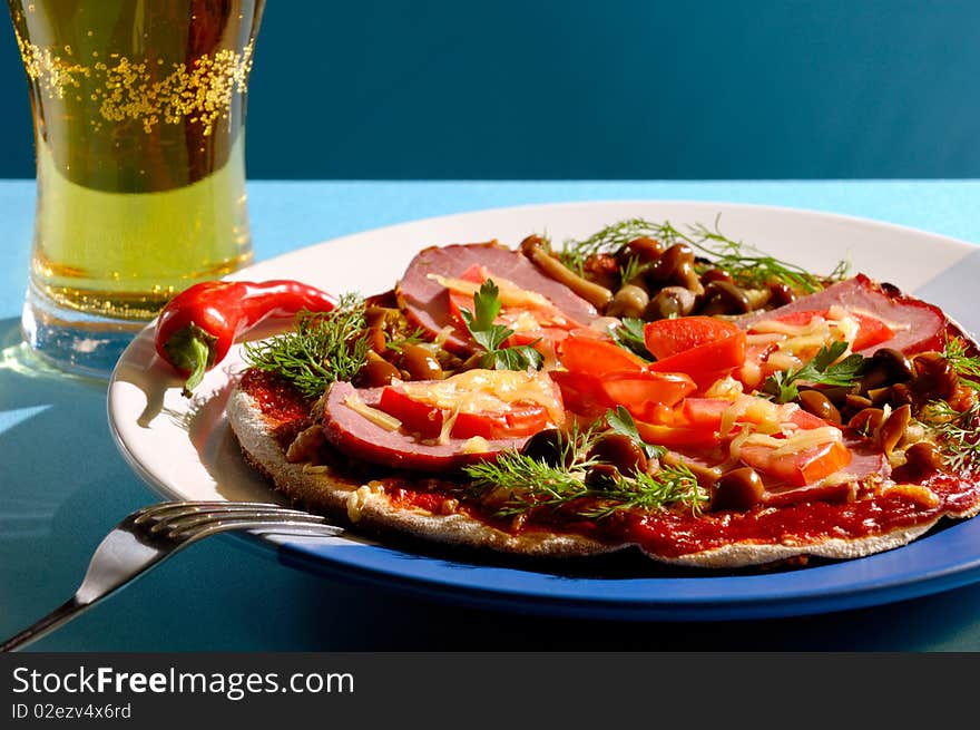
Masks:
[[[686,372],[704,390],[745,362],[745,332],[712,317],[678,317],[644,325],[658,372]]]

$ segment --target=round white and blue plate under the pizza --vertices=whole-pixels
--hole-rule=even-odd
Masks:
[[[611,221],[644,216],[675,224],[719,220],[725,232],[822,271],[846,259],[942,306],[980,331],[971,292],[980,278],[976,246],[875,221],[812,211],[712,202],[615,201],[478,211],[416,221],[295,251],[239,272],[243,279],[303,279],[329,291],[384,291],[420,247],[453,241],[519,241],[547,230],[553,240],[581,237]],[[365,251],[371,265],[365,266]],[[882,252],[888,251],[886,256]],[[922,255],[924,251],[929,255]],[[117,445],[147,484],[177,499],[268,500],[276,496],[241,458],[224,419],[233,349],[209,371],[194,400],[154,354],[153,325],[127,349],[109,386]],[[814,614],[883,604],[980,581],[980,518],[935,531],[911,545],[841,563],[783,572],[668,574],[646,563],[623,571],[561,575],[514,564],[478,564],[462,553],[438,555],[355,539],[324,543],[262,538],[287,564],[473,606],[637,620],[704,621]],[[454,559],[450,559],[451,558]]]

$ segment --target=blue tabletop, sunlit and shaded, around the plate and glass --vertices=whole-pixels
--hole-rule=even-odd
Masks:
[[[0,635],[74,592],[119,518],[156,500],[109,436],[105,385],[16,357],[33,182],[0,182]],[[507,205],[729,201],[876,218],[980,242],[980,182],[253,182],[257,260],[336,235]],[[48,651],[980,650],[980,584],[820,616],[626,624],[410,598],[314,577],[213,538],[38,642]]]

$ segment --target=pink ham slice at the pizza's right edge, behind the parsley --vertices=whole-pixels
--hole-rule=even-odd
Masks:
[[[942,335],[949,323],[942,310],[914,296],[902,294],[890,284],[873,282],[864,274],[857,274],[778,309],[752,312],[738,318],[736,323],[747,330],[763,320],[792,312],[829,309],[834,304],[876,317],[894,331],[895,335],[891,340],[866,348],[861,354],[871,354],[880,348],[892,348],[905,354],[942,350]]]

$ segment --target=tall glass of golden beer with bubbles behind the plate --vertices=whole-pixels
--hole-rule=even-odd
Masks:
[[[22,329],[107,377],[166,302],[252,259],[245,106],[264,0],[8,0],[35,126]]]

